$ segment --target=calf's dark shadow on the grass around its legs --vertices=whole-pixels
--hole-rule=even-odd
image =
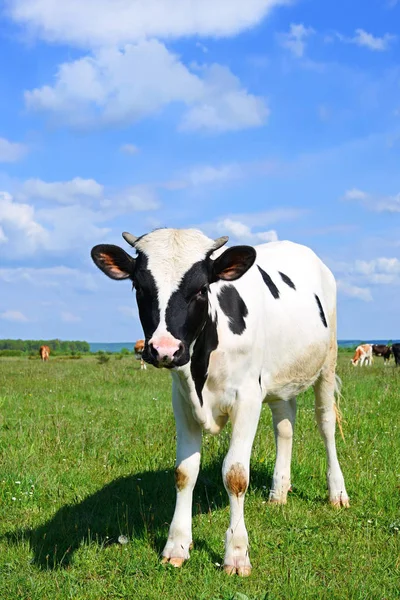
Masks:
[[[222,458],[200,472],[193,513],[202,514],[228,506],[221,477]],[[252,488],[268,484],[265,470],[253,470]],[[29,540],[33,564],[40,569],[68,567],[81,544],[117,544],[121,535],[147,539],[161,554],[175,506],[173,470],[147,471],[121,477],[85,498],[60,508],[54,516],[34,529],[19,529],[3,536],[8,543]],[[222,533],[222,532],[221,532]],[[206,540],[196,539],[214,562],[218,560]]]

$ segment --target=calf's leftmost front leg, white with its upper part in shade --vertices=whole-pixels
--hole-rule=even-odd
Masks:
[[[201,427],[194,420],[184,397],[173,385],[177,445],[175,465],[176,505],[162,552],[163,563],[181,567],[192,546],[193,489],[200,468]]]

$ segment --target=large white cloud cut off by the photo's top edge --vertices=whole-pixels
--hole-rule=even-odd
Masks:
[[[236,35],[287,0],[7,0],[11,18],[50,42],[83,48],[149,37]]]

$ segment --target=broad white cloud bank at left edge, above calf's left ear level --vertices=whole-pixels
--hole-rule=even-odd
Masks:
[[[9,259],[79,252],[108,237],[112,219],[160,206],[154,185],[106,189],[94,179],[76,177],[13,186],[14,196],[0,192],[0,245]]]

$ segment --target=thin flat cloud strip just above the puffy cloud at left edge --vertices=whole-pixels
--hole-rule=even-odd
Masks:
[[[84,198],[100,198],[104,187],[94,179],[75,177],[71,181],[46,182],[41,179],[28,179],[20,188],[20,196],[40,198],[60,204],[75,204]]]

